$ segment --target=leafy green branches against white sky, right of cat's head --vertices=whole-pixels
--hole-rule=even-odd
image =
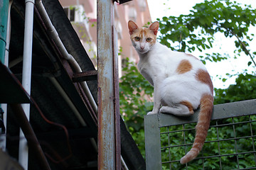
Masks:
[[[215,33],[223,33],[226,38],[235,37],[238,50],[254,56],[247,50],[254,35],[248,35],[250,26],[255,26],[256,10],[229,0],[204,1],[193,6],[188,15],[164,16],[160,23],[160,41],[171,50],[188,51],[210,49],[213,47]],[[250,65],[250,64],[248,64]],[[256,66],[256,64],[255,64]]]

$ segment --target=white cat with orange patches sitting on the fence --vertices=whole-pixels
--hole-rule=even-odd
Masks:
[[[132,45],[139,55],[139,72],[154,86],[154,108],[148,115],[161,112],[188,116],[201,108],[193,147],[181,158],[181,164],[186,164],[198,156],[206,140],[213,112],[210,75],[193,55],[171,51],[156,41],[158,22],[149,28],[139,28],[129,21],[128,28]]]

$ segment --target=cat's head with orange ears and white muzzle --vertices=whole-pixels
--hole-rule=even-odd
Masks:
[[[159,22],[152,23],[149,28],[139,28],[136,23],[129,21],[128,28],[135,50],[140,54],[149,52],[151,47],[156,43]]]

